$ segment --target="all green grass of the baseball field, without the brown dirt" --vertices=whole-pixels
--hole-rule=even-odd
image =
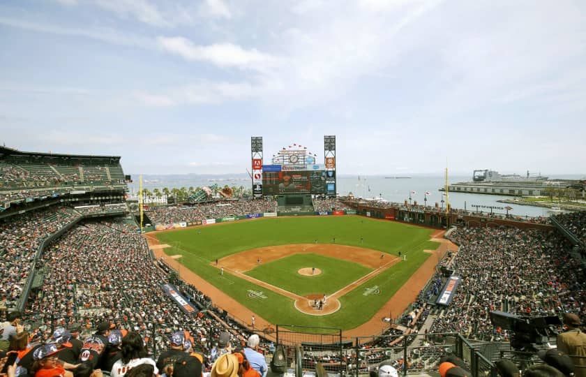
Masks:
[[[193,270],[202,279],[209,281],[271,323],[340,327],[347,330],[372,318],[380,307],[389,301],[398,288],[403,286],[413,272],[430,256],[428,253],[423,253],[424,249],[437,248],[438,244],[429,240],[432,232],[434,230],[361,216],[303,216],[236,221],[159,233],[156,237],[161,243],[172,246],[165,249],[167,255],[180,254],[183,266]],[[300,313],[294,309],[293,301],[289,298],[227,272],[224,276],[220,276],[218,269],[211,265],[216,258],[223,258],[248,249],[282,244],[313,244],[316,239],[318,243],[329,244],[333,242],[334,237],[336,244],[375,249],[392,255],[398,255],[400,251],[403,255],[407,254],[407,260],[396,263],[382,274],[341,297],[342,308],[327,316],[309,316]],[[361,237],[363,243],[360,242]],[[306,257],[313,258],[308,255]],[[347,274],[347,261],[322,256],[315,257],[319,257],[315,259],[315,262],[323,263],[324,269],[328,273],[331,272],[331,276],[336,276],[336,279],[338,277],[346,279],[344,275]],[[303,257],[301,260],[294,257],[284,259],[289,261],[283,261],[283,265],[280,261],[266,263],[253,269],[249,274],[264,281],[274,281],[276,282],[276,284],[273,283],[274,285],[285,290],[296,290],[296,293],[300,295],[328,292],[324,288],[336,289],[333,285],[329,286],[329,281],[320,282],[315,280],[315,276],[303,277],[296,274],[296,270],[301,267],[313,267],[304,265],[311,260],[303,261]],[[287,264],[291,267],[285,273]],[[281,273],[271,272],[271,265]],[[296,267],[292,267],[293,265]],[[322,269],[322,265],[315,265],[315,267]],[[366,267],[359,267],[363,269],[362,272],[358,268],[352,272],[353,276],[367,274],[370,271]],[[349,282],[355,280],[354,277],[347,279]],[[342,280],[339,283],[342,286],[347,284]],[[379,288],[380,294],[363,295],[367,288],[375,286]],[[262,291],[266,298],[250,298],[248,290]],[[403,309],[397,310],[399,312]],[[237,313],[234,315],[237,316]]]

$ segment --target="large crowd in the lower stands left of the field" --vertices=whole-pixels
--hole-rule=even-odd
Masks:
[[[167,281],[170,269],[162,261],[153,263],[134,223],[78,224],[45,250],[39,268],[45,271],[43,287],[29,298],[27,313],[44,325],[75,320],[93,328],[110,320],[139,332],[159,352],[170,334],[187,330],[204,355],[227,326],[215,315],[184,313],[164,293],[160,284]],[[213,306],[194,286],[174,283],[194,304]]]

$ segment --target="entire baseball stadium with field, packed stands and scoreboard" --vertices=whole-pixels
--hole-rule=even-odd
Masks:
[[[550,364],[555,344],[572,355],[552,356],[570,360],[559,370],[586,374],[564,343],[586,318],[586,212],[520,219],[340,196],[335,135],[320,156],[270,153],[250,138],[240,193],[154,203],[121,156],[1,147],[0,346],[19,352],[20,372],[6,370],[33,376],[32,360],[59,352],[66,369],[115,375],[132,333],[174,377],[222,376],[213,364],[235,348],[261,356],[247,362],[262,377],[382,364],[389,376],[504,376],[503,360]],[[165,369],[171,350],[195,369]]]

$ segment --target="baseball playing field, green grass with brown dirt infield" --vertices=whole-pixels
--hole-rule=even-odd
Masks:
[[[149,238],[156,237],[164,258],[180,263],[180,274],[189,269],[269,323],[348,330],[401,295],[400,288],[432,256],[429,251],[440,246],[431,241],[434,233],[361,216],[303,216]]]

